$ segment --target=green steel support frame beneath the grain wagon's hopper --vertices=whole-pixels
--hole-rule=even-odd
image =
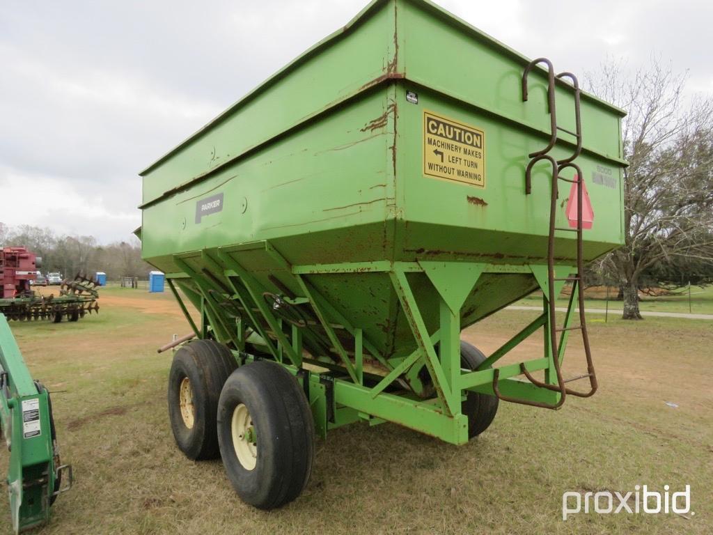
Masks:
[[[275,272],[289,273],[296,282],[301,295],[284,297],[284,300],[303,309],[309,307],[317,319],[318,327],[324,330],[332,345],[331,350],[336,354],[333,360],[326,355],[310,355],[304,351],[304,338],[314,337],[312,326],[301,328],[291,325],[284,320],[279,310],[267,304],[263,296],[274,288],[263,285],[240,263],[240,255],[249,250],[263,250],[279,266]],[[200,265],[205,267],[200,270],[192,267],[190,258],[200,259]],[[388,421],[452,444],[464,444],[468,442],[468,420],[461,412],[461,401],[468,391],[494,394],[495,386],[503,396],[550,405],[560,399],[560,392],[516,378],[523,373],[524,367],[530,373],[544,370],[545,383],[557,384],[555,355],[548,343],[548,336],[543,337],[542,356],[492,368],[533,333],[540,329],[548,332],[550,322],[555,321],[550,316],[548,306],[547,296],[550,293],[547,265],[426,261],[289,265],[267,241],[184,253],[175,255],[173,260],[183,272],[168,274],[168,282],[194,332],[199,337],[213,337],[232,347],[239,365],[267,358],[281,363],[299,376],[312,405],[317,430],[322,436],[326,436],[327,429],[350,422],[368,420],[371,424],[377,424]],[[558,265],[556,269],[561,273],[573,272],[573,267],[568,265]],[[359,326],[350,324],[308,280],[309,275],[364,272],[382,273],[391,280],[416,340],[416,350],[411,355],[384,358]],[[427,275],[440,296],[439,326],[435,332],[429,332],[426,328],[419,302],[414,297],[407,277],[413,272]],[[485,273],[531,275],[545,295],[543,312],[493,352],[478,370],[462,370],[461,307],[478,278]],[[555,295],[560,293],[564,284],[564,281],[555,282]],[[284,290],[282,286],[276,285],[278,292]],[[190,317],[177,287],[200,310],[200,326]],[[573,295],[575,293],[576,288],[573,288]],[[566,329],[570,326],[574,306],[570,300],[556,355],[559,362],[563,360],[568,339]],[[248,338],[248,327],[254,333],[252,341]],[[345,349],[343,337],[337,335],[337,330],[349,333],[354,343],[353,352]],[[260,347],[260,352],[256,352],[255,347]],[[365,352],[386,369],[384,374],[365,372]],[[399,380],[418,379],[421,367],[426,368],[434,387],[434,395],[429,399],[423,399],[412,389],[404,388],[404,383]]]

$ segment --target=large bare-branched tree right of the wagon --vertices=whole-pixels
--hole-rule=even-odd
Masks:
[[[681,258],[713,261],[713,101],[684,96],[685,74],[654,60],[622,76],[613,63],[590,91],[624,108],[625,245],[595,270],[619,281],[625,320],[640,320],[642,274]]]

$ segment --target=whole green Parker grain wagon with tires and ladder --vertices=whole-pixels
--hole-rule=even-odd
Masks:
[[[180,449],[220,454],[270,509],[304,488],[315,433],[464,444],[498,399],[593,394],[574,310],[583,263],[623,240],[623,115],[428,1],[375,0],[150,165],[143,258],[200,339],[170,372]],[[541,315],[499,350],[461,342],[535,290]],[[493,367],[540,330],[542,353]],[[586,362],[564,379],[568,335]]]

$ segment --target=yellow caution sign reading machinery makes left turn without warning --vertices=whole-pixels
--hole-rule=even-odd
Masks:
[[[486,187],[486,134],[424,111],[424,175]]]

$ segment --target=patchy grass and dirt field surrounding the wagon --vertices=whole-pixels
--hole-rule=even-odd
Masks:
[[[337,429],[318,442],[302,497],[266,513],[237,499],[220,460],[191,462],[174,445],[171,356],[155,352],[189,330],[173,298],[109,288],[100,303],[100,315],[76,324],[12,324],[34,377],[55,392],[61,453],[76,474],[40,534],[713,532],[713,322],[593,316],[601,387],[592,399],[570,398],[558,412],[502,403],[463,447],[393,424]],[[491,352],[532,317],[501,312],[463,337]],[[539,355],[539,344],[533,337],[511,360]],[[568,362],[565,375],[583,370],[576,343]],[[561,519],[563,491],[636,484],[690,484],[694,516]],[[5,499],[0,519],[10,533]]]

